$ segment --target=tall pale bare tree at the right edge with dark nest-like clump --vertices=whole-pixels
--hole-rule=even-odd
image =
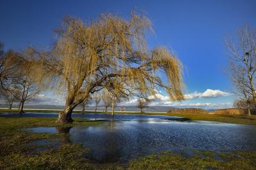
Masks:
[[[236,37],[229,36],[225,40],[229,50],[228,72],[236,87],[236,94],[245,101],[252,99],[256,108],[256,29],[245,25],[238,29]]]

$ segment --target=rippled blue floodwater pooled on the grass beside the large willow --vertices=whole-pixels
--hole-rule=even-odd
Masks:
[[[30,114],[30,115],[29,115]],[[34,117],[34,113],[27,113]],[[39,114],[49,117],[49,114]],[[37,115],[36,115],[37,116]],[[77,115],[78,116],[78,115]],[[84,114],[86,118],[110,119],[106,114]],[[76,115],[74,115],[76,117]],[[114,121],[98,126],[35,127],[33,132],[65,132],[62,142],[83,143],[90,149],[84,157],[100,162],[127,162],[162,151],[211,150],[232,152],[256,150],[256,126],[208,121],[177,122],[162,116],[115,115]],[[127,121],[129,120],[129,121]]]

